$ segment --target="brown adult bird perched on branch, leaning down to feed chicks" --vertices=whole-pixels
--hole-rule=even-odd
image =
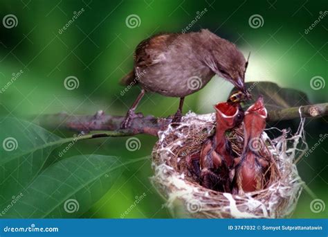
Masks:
[[[127,112],[122,128],[128,128],[135,110],[146,91],[179,97],[174,122],[181,120],[183,100],[203,88],[218,75],[248,94],[244,87],[247,62],[235,44],[210,30],[185,34],[164,33],[143,40],[136,47],[134,69],[120,80],[123,85],[136,85],[142,90]]]

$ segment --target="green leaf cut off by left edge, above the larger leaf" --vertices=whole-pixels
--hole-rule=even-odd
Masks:
[[[0,207],[30,184],[61,139],[15,118],[0,121]]]

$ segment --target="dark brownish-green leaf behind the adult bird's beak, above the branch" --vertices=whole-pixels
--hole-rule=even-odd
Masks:
[[[246,82],[245,86],[252,95],[252,99],[243,105],[246,109],[255,103],[259,95],[263,96],[268,111],[309,105],[309,99],[304,92],[291,88],[282,88],[273,82]],[[235,91],[237,89],[233,88],[230,95]]]

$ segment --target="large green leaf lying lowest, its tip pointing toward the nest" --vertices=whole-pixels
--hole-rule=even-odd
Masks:
[[[3,218],[79,217],[111,188],[124,165],[117,157],[103,155],[58,161],[22,191]]]

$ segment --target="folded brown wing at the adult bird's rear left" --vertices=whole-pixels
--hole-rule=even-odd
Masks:
[[[165,61],[165,52],[175,38],[175,34],[161,34],[140,42],[134,54],[136,67],[149,67]]]

